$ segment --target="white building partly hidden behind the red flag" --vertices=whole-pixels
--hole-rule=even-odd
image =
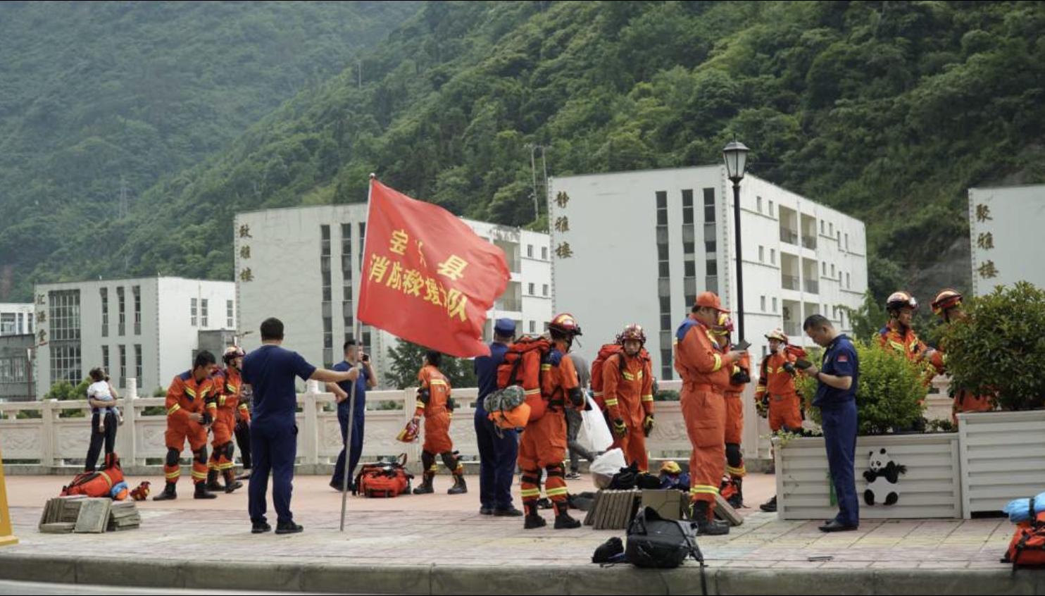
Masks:
[[[246,349],[260,344],[261,321],[286,327],[284,345],[316,365],[342,360],[353,337],[368,207],[366,204],[293,207],[238,213],[235,221],[238,328]],[[511,281],[489,313],[515,320],[518,331],[541,333],[552,317],[548,234],[465,220],[480,236],[505,251]],[[364,325],[364,349],[384,384],[388,350],[398,340]]]

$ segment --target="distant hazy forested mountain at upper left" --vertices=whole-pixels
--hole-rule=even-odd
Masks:
[[[0,3],[0,301],[27,300],[37,280],[121,274],[111,221],[417,7]]]

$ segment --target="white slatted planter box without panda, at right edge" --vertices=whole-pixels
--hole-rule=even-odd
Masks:
[[[958,414],[962,512],[1045,490],[1045,410]]]

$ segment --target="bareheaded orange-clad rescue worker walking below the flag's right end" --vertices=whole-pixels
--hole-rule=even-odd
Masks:
[[[421,386],[417,389],[417,410],[414,411],[414,422],[424,416],[424,444],[421,451],[421,466],[424,468],[421,485],[414,488],[414,495],[435,492],[432,481],[436,477],[438,465],[436,455],[443,459],[446,468],[454,475],[454,486],[447,495],[462,495],[468,491],[464,482],[464,465],[454,453],[454,441],[450,440],[450,418],[454,416],[454,399],[450,397],[450,383],[439,371],[442,354],[428,350],[424,356],[424,366],[417,373]]]

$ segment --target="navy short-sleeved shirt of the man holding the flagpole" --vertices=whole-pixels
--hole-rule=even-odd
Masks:
[[[252,423],[294,421],[298,392],[294,377],[307,381],[316,367],[296,351],[262,345],[243,358],[242,376],[254,390]]]

